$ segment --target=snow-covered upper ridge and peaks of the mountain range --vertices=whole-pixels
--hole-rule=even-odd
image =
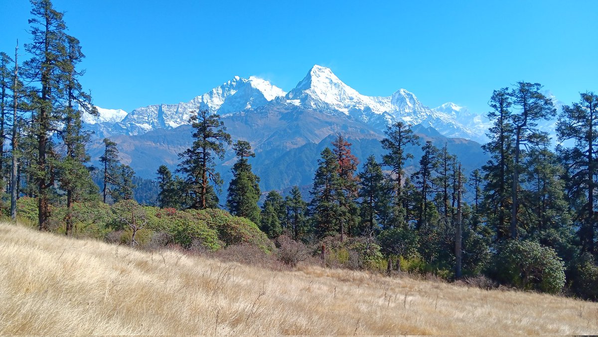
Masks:
[[[153,129],[173,129],[188,124],[193,111],[206,109],[221,115],[251,113],[257,109],[289,110],[304,108],[347,118],[384,130],[390,123],[433,127],[443,135],[485,141],[481,116],[468,113],[454,104],[431,109],[405,89],[392,96],[366,96],[347,86],[331,69],[315,65],[297,86],[284,92],[269,81],[257,77],[234,77],[210,92],[189,102],[157,104],[137,108],[129,114],[104,110],[100,117],[86,119],[90,129],[103,135],[140,135]],[[123,114],[126,116],[123,117]],[[97,125],[96,125],[97,124]]]

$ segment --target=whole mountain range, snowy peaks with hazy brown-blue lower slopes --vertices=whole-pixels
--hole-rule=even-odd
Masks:
[[[309,185],[320,151],[331,146],[337,133],[352,142],[361,162],[370,154],[380,159],[383,132],[399,121],[438,147],[447,144],[462,155],[466,167],[487,159],[480,142],[486,141],[489,122],[482,116],[450,102],[428,108],[405,89],[391,96],[361,95],[318,65],[289,92],[261,78],[236,76],[189,102],[148,105],[130,113],[98,108],[99,116],[83,116],[84,127],[95,134],[90,154],[97,162],[101,139],[109,137],[117,142],[123,163],[140,177],[154,178],[161,164],[176,168],[177,154],[191,144],[189,117],[200,109],[221,115],[233,139],[251,143],[263,190]],[[419,147],[410,151],[416,158],[421,153]],[[233,162],[229,151],[219,165],[225,181]]]

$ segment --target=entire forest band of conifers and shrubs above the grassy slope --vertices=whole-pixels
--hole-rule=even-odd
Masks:
[[[81,114],[97,111],[79,82],[80,42],[50,0],[32,5],[29,58],[19,60],[18,42],[14,57],[0,53],[2,210],[12,220],[133,246],[213,251],[245,243],[271,253],[296,244],[350,268],[447,280],[484,275],[521,289],[598,299],[593,92],[557,113],[541,84],[495,90],[490,142],[483,145],[491,159],[471,174],[446,146],[420,144],[402,122],[386,130],[385,154],[365,163],[338,134],[321,153],[309,195],[299,186],[287,195],[269,191],[260,207],[266,193],[252,172],[251,144],[233,143],[220,117],[207,111],[190,120],[193,144],[179,154],[176,172],[160,166],[155,181],[136,178],[108,138],[100,167],[92,167]],[[536,126],[555,116],[551,139]],[[407,174],[413,154],[405,148],[416,144],[423,155]],[[236,163],[221,201],[215,164],[230,145]]]

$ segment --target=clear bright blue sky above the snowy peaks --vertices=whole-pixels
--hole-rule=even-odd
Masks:
[[[291,90],[314,64],[365,95],[399,88],[484,113],[493,89],[598,91],[598,1],[54,0],[103,108],[189,101],[234,75]],[[30,4],[0,0],[0,50],[29,40]],[[22,49],[23,51],[23,49]],[[26,56],[22,56],[24,59]]]

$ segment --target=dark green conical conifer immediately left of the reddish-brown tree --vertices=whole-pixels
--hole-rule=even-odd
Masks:
[[[337,157],[330,148],[322,150],[320,156],[310,192],[311,210],[316,232],[320,236],[327,236],[340,233],[338,218],[341,210],[337,193],[340,190],[340,168]]]

